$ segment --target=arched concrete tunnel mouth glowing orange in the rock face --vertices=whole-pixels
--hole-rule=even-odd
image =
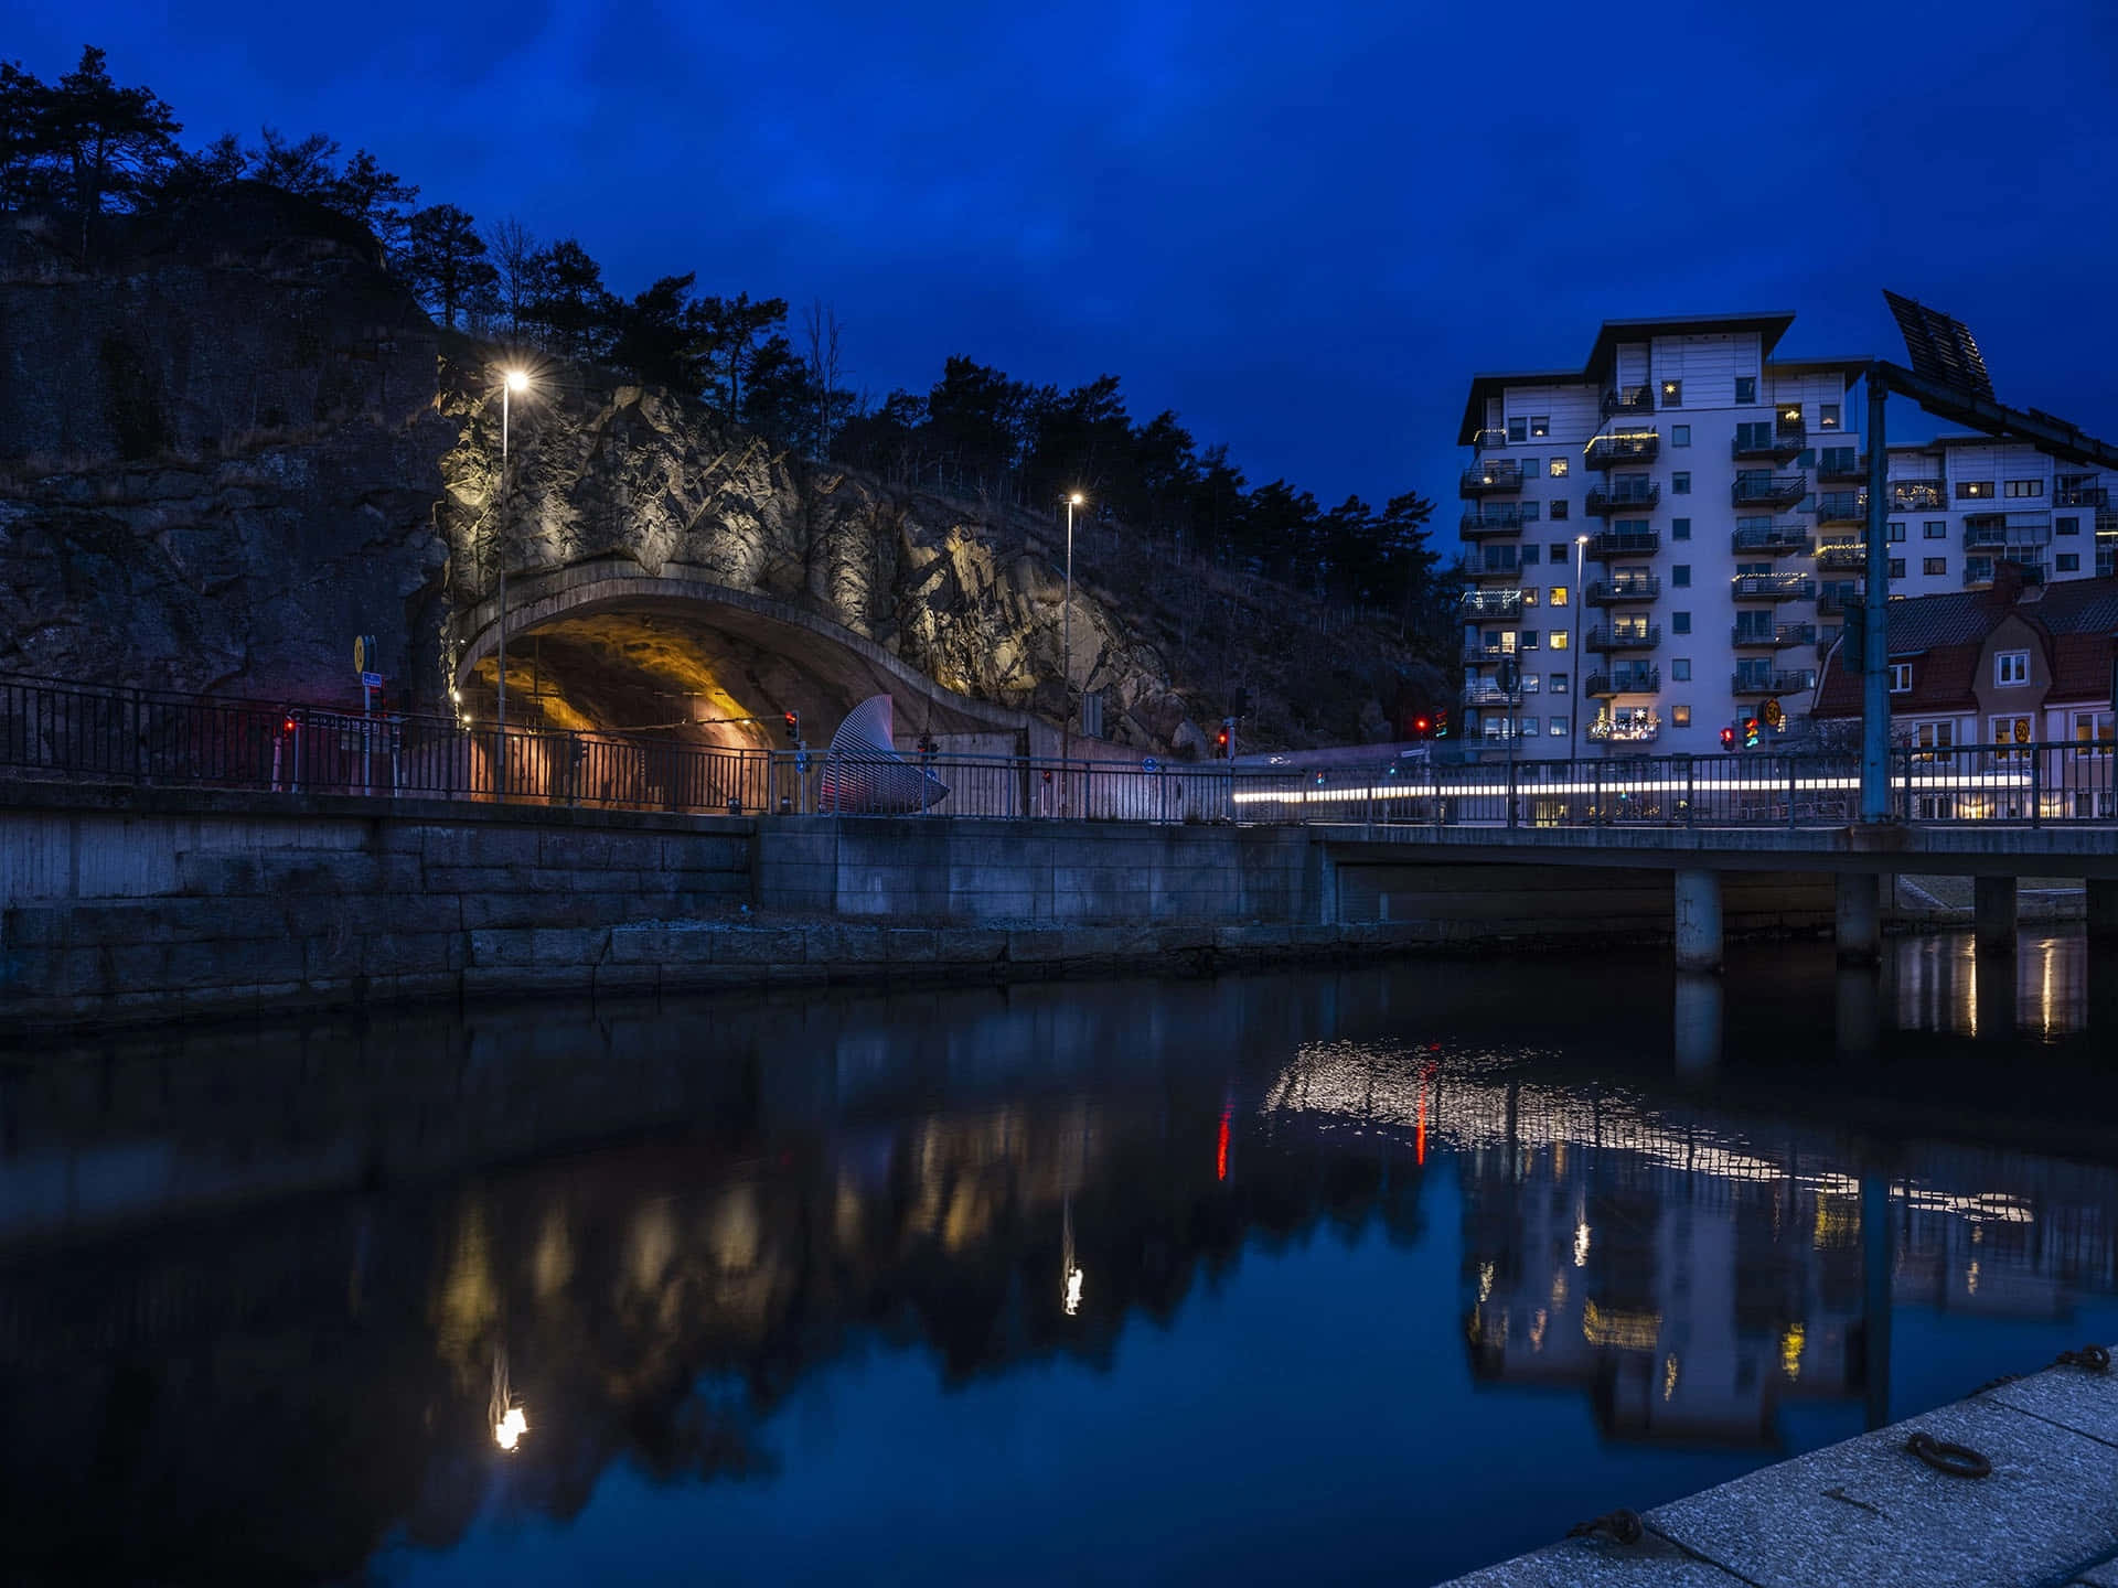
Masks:
[[[451,680],[479,720],[496,707],[498,639],[493,593],[468,614]],[[604,561],[510,580],[506,658],[510,726],[784,750],[784,714],[798,711],[822,750],[860,701],[890,694],[907,745],[932,733],[955,754],[1006,756],[1044,737],[1025,714],[949,690],[830,618],[697,570]]]

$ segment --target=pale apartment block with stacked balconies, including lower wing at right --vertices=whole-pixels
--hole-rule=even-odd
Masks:
[[[1466,739],[1516,756],[1800,735],[1866,578],[1868,358],[1792,313],[1608,320],[1586,364],[1476,375],[1457,440]],[[1902,404],[1900,404],[1902,407]],[[2105,476],[2021,443],[1889,447],[1889,591],[2114,572]]]

